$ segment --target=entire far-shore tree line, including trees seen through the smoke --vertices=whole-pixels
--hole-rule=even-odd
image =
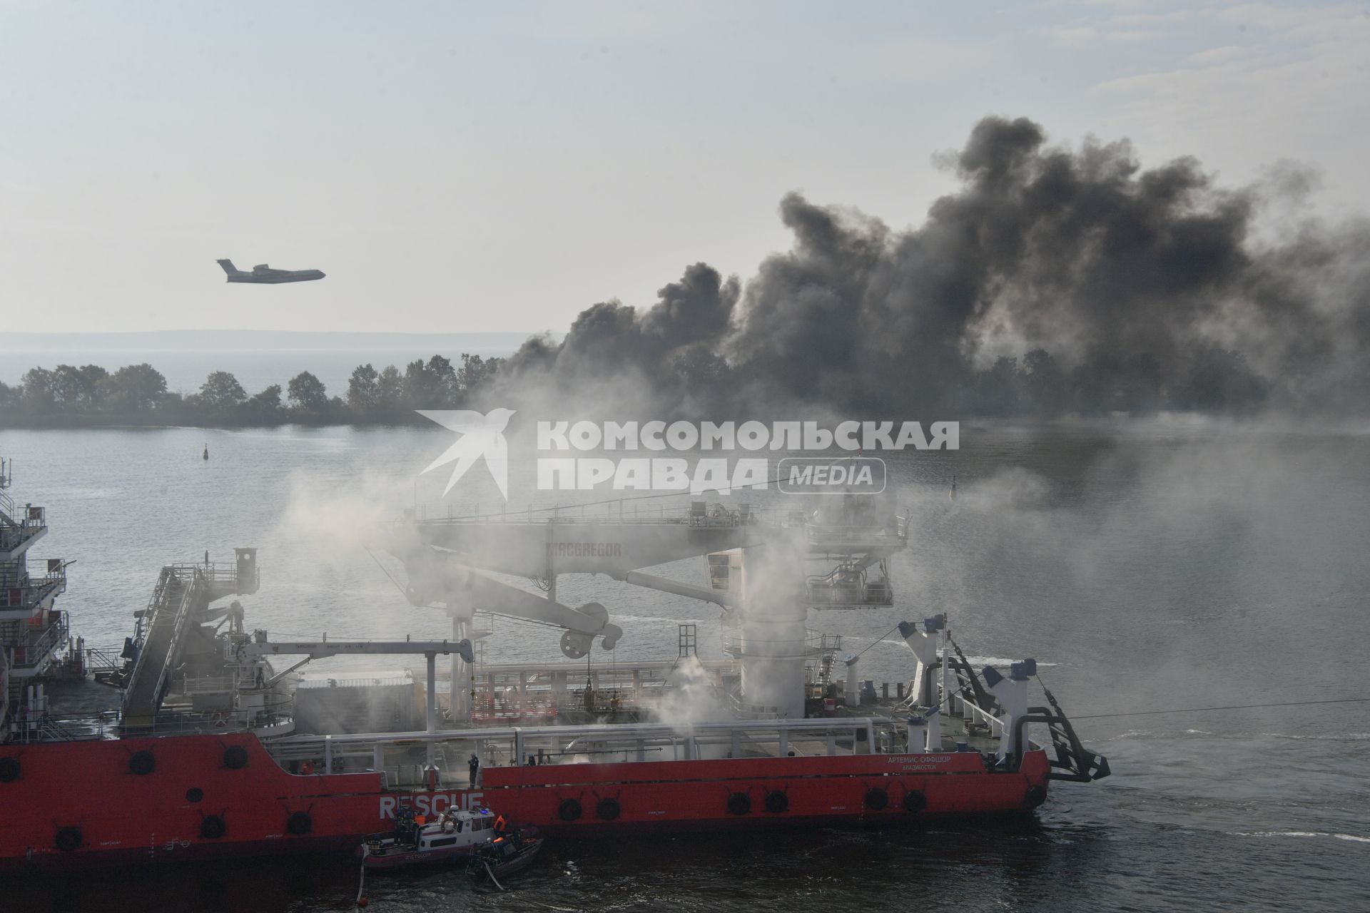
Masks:
[[[527,348],[527,346],[525,346]],[[600,370],[608,370],[600,365]],[[655,374],[634,376],[660,397],[660,402],[693,400],[693,408],[719,415],[759,400],[727,363],[712,352],[690,349],[652,365]],[[891,390],[866,402],[878,412],[918,415],[915,396],[900,389],[891,371]],[[536,360],[482,359],[462,355],[459,363],[434,355],[427,361],[358,365],[341,396],[330,396],[323,382],[303,371],[282,389],[273,383],[253,394],[229,371],[214,371],[199,391],[167,390],[166,378],[151,364],[132,364],[110,372],[86,364],[32,368],[15,386],[0,383],[0,427],[84,427],[100,424],[270,426],[301,424],[422,424],[415,409],[480,408],[481,394],[496,379],[507,382],[504,394],[522,383],[541,383],[559,390],[577,386],[577,375],[538,370]],[[1004,356],[978,371],[938,381],[940,413],[967,417],[1099,415],[1159,411],[1251,413],[1265,407],[1297,408],[1280,400],[1271,385],[1256,375],[1245,359],[1232,350],[1204,348],[1178,378],[1167,381],[1149,355],[1096,360],[1064,368],[1043,349],[1022,359]],[[860,408],[862,402],[848,404]],[[926,407],[926,404],[925,404]]]

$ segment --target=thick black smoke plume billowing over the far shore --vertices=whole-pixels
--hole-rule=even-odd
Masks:
[[[530,339],[503,379],[625,375],[715,411],[1366,411],[1370,227],[1263,219],[1306,172],[1226,189],[1022,118],[985,118],[949,166],[960,189],[910,231],[790,193],[793,246],[745,285],[697,263],[645,311]]]

